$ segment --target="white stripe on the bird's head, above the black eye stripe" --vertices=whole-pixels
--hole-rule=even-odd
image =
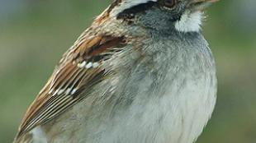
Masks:
[[[126,10],[126,9],[129,9],[130,7],[134,7],[134,6],[137,6],[139,4],[142,4],[142,3],[147,3],[147,2],[157,2],[158,0],[124,0],[123,2],[120,3],[119,6],[115,7],[110,16],[112,17],[115,17],[118,15],[118,13]]]

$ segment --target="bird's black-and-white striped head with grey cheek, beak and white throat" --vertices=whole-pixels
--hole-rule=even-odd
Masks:
[[[202,10],[218,0],[116,0],[107,16],[155,30],[199,31]]]

